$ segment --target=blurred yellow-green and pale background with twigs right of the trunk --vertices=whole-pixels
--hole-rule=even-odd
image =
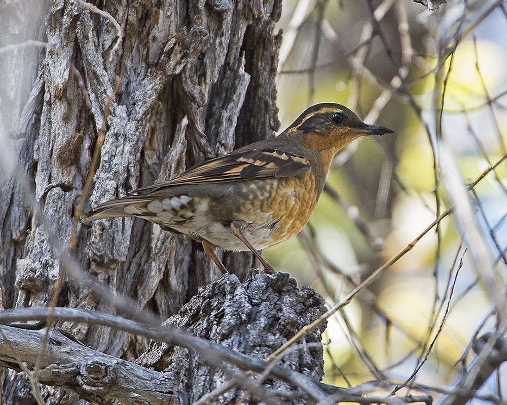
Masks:
[[[474,357],[474,338],[495,331],[505,296],[507,3],[430,12],[408,0],[284,0],[279,28],[281,130],[337,102],[396,133],[343,150],[309,226],[264,254],[332,306],[456,205],[323,338],[325,381],[415,374],[414,387],[438,396]],[[502,390],[505,367],[477,395],[505,403]]]

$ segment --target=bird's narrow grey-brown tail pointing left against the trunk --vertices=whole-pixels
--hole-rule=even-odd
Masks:
[[[138,197],[135,195],[113,199],[84,213],[79,219],[88,222],[104,218],[139,216],[150,200],[150,198]]]

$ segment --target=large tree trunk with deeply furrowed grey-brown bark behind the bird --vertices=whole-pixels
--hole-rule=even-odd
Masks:
[[[274,80],[281,34],[274,25],[280,3],[96,2],[110,16],[80,0],[54,0],[49,9],[38,0],[2,6],[10,33],[2,45],[18,44],[0,54],[0,124],[10,138],[3,141],[0,189],[4,308],[49,304],[75,209],[88,198],[82,192],[103,126],[85,208],[273,135],[279,126]],[[33,38],[47,45],[23,42]],[[116,76],[121,85],[114,97]],[[79,224],[71,254],[96,282],[161,320],[220,276],[200,244],[137,219]],[[240,279],[256,264],[249,253],[223,256]],[[59,306],[118,313],[108,297],[81,281],[67,273]],[[133,359],[147,348],[146,339],[115,329],[63,327],[112,356]],[[15,393],[3,403],[30,391],[13,371],[2,389]],[[46,401],[62,397],[53,391]]]

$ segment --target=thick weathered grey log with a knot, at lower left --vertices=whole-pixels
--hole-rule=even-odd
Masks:
[[[45,309],[47,313],[48,308]],[[0,365],[21,371],[20,359],[28,369],[33,369],[43,346],[45,331],[2,326]],[[19,357],[15,356],[13,349]],[[93,350],[55,329],[49,332],[48,350],[41,366],[41,383],[72,390],[88,401],[185,403],[184,391],[175,386],[170,374]]]

